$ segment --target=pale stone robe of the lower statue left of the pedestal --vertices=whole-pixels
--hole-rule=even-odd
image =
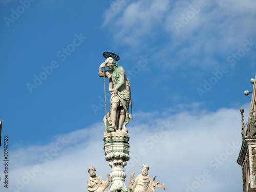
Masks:
[[[107,192],[105,190],[106,187],[109,186],[108,181],[104,181],[101,177],[90,177],[87,181],[88,190],[90,192]]]

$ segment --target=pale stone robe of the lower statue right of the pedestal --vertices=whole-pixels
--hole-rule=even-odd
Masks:
[[[134,192],[155,192],[150,175],[138,175],[134,182]]]

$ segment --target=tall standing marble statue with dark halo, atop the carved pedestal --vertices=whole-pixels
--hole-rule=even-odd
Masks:
[[[108,67],[109,70],[103,72],[105,67]],[[109,91],[111,93],[110,111],[103,119],[106,130],[127,133],[125,125],[132,119],[132,115],[129,114],[129,105],[131,105],[129,79],[126,78],[124,69],[117,66],[113,57],[106,58],[105,62],[100,65],[99,76],[103,77],[104,75],[110,78]]]

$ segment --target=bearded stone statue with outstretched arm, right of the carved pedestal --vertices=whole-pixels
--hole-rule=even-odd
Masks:
[[[155,178],[152,180],[150,175],[147,174],[148,167],[147,165],[142,166],[142,173],[134,179],[133,172],[130,177],[128,189],[130,192],[155,192],[154,187],[162,187],[165,190],[164,184],[155,182]]]

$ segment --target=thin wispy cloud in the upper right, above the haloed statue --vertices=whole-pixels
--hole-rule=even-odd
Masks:
[[[183,25],[182,14],[187,16],[191,6],[202,1],[139,0],[126,6],[121,4],[117,13],[111,9],[105,12],[103,26],[113,35],[113,42],[119,46],[139,45],[140,49],[132,51],[152,53],[152,63],[158,63],[164,70],[216,70],[227,65],[226,58],[231,53],[243,48],[244,39],[255,37],[256,27],[252,24],[256,22],[256,3],[205,1],[199,12]],[[179,32],[175,22],[183,25]]]

